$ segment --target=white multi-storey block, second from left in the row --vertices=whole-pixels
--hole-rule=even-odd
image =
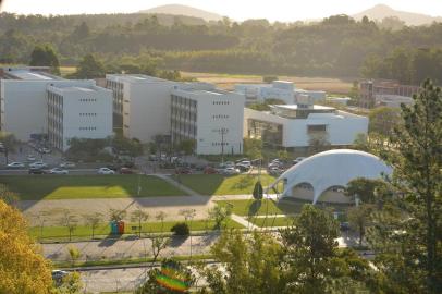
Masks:
[[[47,88],[48,138],[65,151],[71,138],[112,135],[112,91],[95,85],[50,85]]]

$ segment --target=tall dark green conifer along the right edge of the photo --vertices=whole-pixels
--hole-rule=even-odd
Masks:
[[[442,94],[426,81],[382,157],[394,168],[397,193],[370,233],[375,265],[395,293],[442,291]],[[413,278],[413,279],[410,279]]]

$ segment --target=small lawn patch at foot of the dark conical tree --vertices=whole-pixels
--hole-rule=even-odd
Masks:
[[[249,200],[220,200],[217,201],[220,206],[226,206],[231,204],[232,212],[238,216],[265,216],[266,213],[271,215],[287,215],[287,213],[298,213],[302,209],[302,204],[286,204],[279,203],[275,204],[273,200],[263,199],[257,201],[254,199]]]

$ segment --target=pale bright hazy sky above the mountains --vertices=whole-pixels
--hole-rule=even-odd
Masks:
[[[180,3],[231,19],[296,21],[353,14],[383,3],[396,10],[442,15],[442,0],[3,0],[2,11],[21,14],[131,13]]]

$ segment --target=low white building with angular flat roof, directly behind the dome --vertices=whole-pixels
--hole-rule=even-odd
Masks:
[[[245,137],[272,146],[305,148],[315,136],[332,146],[346,146],[367,131],[368,118],[331,107],[281,105],[271,106],[271,111],[244,110]]]

